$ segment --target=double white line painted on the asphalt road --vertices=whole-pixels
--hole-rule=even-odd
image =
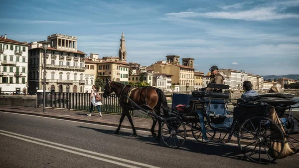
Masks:
[[[45,141],[45,140],[41,140],[41,139],[37,139],[37,138],[33,138],[33,137],[28,137],[28,136],[24,136],[24,135],[21,135],[21,134],[16,134],[16,133],[4,131],[4,130],[0,130],[0,132],[3,132],[3,133],[0,133],[0,134],[4,135],[4,136],[16,138],[16,139],[27,141],[27,142],[30,142],[30,143],[34,143],[34,144],[38,144],[38,145],[58,149],[58,150],[61,150],[61,151],[65,151],[65,152],[69,152],[69,153],[73,153],[73,154],[93,158],[93,159],[96,159],[96,160],[100,160],[100,161],[104,161],[104,162],[108,162],[108,163],[112,163],[112,164],[116,164],[116,165],[120,165],[120,166],[124,166],[124,167],[128,167],[128,168],[139,168],[139,167],[124,164],[124,163],[120,163],[120,162],[116,162],[116,161],[112,161],[112,160],[108,160],[108,159],[104,159],[104,158],[95,157],[95,156],[92,156],[92,155],[87,155],[87,154],[76,152],[76,151],[71,151],[71,150],[64,149],[64,148],[69,148],[69,149],[85,152],[85,153],[88,153],[88,154],[98,155],[98,156],[101,156],[101,157],[114,159],[114,160],[122,161],[122,162],[127,162],[127,163],[130,163],[130,164],[139,165],[139,166],[143,166],[143,167],[147,167],[147,168],[159,168],[159,167],[154,167],[154,166],[139,163],[139,162],[134,162],[134,161],[130,161],[130,160],[122,159],[122,158],[117,158],[117,157],[113,157],[113,156],[109,156],[109,155],[105,155],[105,154],[100,154],[100,153],[87,151],[87,150],[83,150],[83,149],[79,149],[79,148],[75,148],[75,147],[70,147],[70,146],[66,146],[66,145],[62,145],[62,144],[58,144],[58,143],[53,143],[53,142],[50,142],[50,141]],[[7,133],[7,134],[5,134],[5,133]],[[12,135],[9,135],[9,134],[12,134]],[[16,137],[16,136],[13,136],[13,135],[16,135],[16,136],[19,136],[19,137]],[[32,141],[32,140],[28,140],[28,139],[24,139],[24,138],[20,138],[20,137],[24,137],[24,138],[28,138],[28,139],[32,139],[32,140],[36,140],[36,141],[40,141],[40,142],[44,142],[44,143],[64,147],[64,148],[60,148],[60,147],[56,147],[56,146],[52,146],[52,145],[48,145],[48,144],[43,144],[43,143],[40,143],[40,142],[36,142],[36,141]]]

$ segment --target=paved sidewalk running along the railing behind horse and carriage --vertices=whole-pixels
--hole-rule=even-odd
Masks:
[[[19,113],[19,114],[28,114],[42,117],[50,117],[57,118],[63,120],[71,120],[99,125],[107,125],[107,126],[115,126],[118,127],[121,115],[112,115],[112,114],[102,114],[102,117],[98,117],[98,113],[92,113],[91,116],[87,116],[89,112],[87,111],[75,111],[75,110],[62,110],[62,109],[52,109],[46,108],[46,113],[42,113],[42,108],[34,108],[34,107],[23,107],[23,106],[9,106],[9,105],[1,105],[0,111],[10,112],[10,113]],[[149,131],[152,125],[152,119],[148,118],[139,118],[132,117],[133,124],[136,130]],[[131,128],[131,124],[127,117],[125,117],[121,128]],[[189,128],[186,128],[187,130]],[[156,124],[155,132],[158,130],[158,124]],[[132,131],[133,134],[133,131]],[[191,132],[187,132],[188,137],[192,137]],[[219,133],[216,133],[215,140],[218,139]],[[292,135],[292,137],[299,139],[299,135]],[[224,140],[226,140],[225,137]],[[238,140],[236,137],[232,136],[230,143],[238,144]],[[242,142],[242,144],[247,144],[248,142]]]

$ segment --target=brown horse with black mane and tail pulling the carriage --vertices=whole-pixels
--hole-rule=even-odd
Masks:
[[[105,90],[103,93],[103,97],[107,98],[112,92],[114,92],[118,96],[120,106],[123,109],[122,117],[120,119],[120,124],[119,124],[118,129],[115,131],[115,134],[119,133],[119,131],[121,129],[122,122],[123,122],[125,116],[127,116],[129,119],[129,122],[131,123],[132,129],[133,129],[133,135],[137,136],[134,124],[132,122],[131,115],[129,113],[130,110],[135,110],[135,108],[132,106],[132,104],[130,102],[128,102],[127,96],[129,96],[129,98],[131,100],[133,100],[137,105],[155,113],[158,116],[161,115],[160,114],[161,106],[162,106],[163,114],[165,116],[167,116],[168,112],[170,111],[170,108],[167,105],[166,96],[158,88],[149,86],[149,87],[132,89],[130,85],[124,85],[119,82],[107,80],[107,84],[105,85],[104,89]],[[137,109],[137,110],[139,110],[139,109]],[[152,118],[152,120],[153,120],[153,123],[152,123],[151,129],[150,129],[151,135],[156,140],[159,140],[161,121],[158,120],[159,131],[158,131],[158,136],[156,136],[156,133],[154,132],[154,127],[156,125],[157,120],[155,118]]]

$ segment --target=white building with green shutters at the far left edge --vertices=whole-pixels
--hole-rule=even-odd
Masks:
[[[27,92],[28,46],[0,37],[0,92]]]

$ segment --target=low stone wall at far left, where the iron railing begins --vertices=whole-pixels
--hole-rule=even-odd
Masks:
[[[0,105],[37,107],[37,97],[0,95]]]

